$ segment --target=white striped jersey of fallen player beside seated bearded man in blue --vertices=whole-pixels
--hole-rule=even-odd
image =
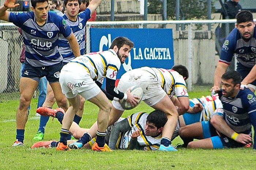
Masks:
[[[219,100],[218,94],[193,98],[189,99],[189,101],[193,104],[201,103],[203,105],[204,109],[201,112],[200,121],[209,121],[214,111],[222,108],[222,103],[221,100]]]

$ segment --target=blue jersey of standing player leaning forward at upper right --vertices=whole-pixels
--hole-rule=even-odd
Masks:
[[[242,39],[240,32],[234,28],[227,36],[222,48],[219,61],[230,64],[233,55],[237,61],[244,67],[250,69],[255,65],[256,61],[256,27],[254,34],[249,41]]]

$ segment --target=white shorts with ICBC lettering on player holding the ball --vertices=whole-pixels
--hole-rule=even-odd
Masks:
[[[97,96],[101,91],[87,70],[78,63],[68,63],[63,66],[59,81],[62,93],[67,98],[74,98],[77,94],[80,94],[88,100]]]

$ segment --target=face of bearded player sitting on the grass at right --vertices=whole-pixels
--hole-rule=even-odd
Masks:
[[[223,80],[221,79],[222,95],[224,97],[235,97],[237,94],[237,85],[234,85],[232,79]]]

